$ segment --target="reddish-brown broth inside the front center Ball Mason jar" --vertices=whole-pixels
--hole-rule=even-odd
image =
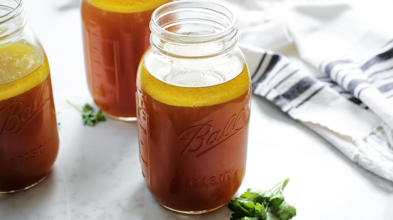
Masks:
[[[141,78],[150,75],[145,68],[139,74]],[[202,106],[166,104],[139,82],[142,173],[149,190],[164,206],[187,212],[212,210],[228,202],[239,188],[245,172],[251,96],[249,81],[242,77],[248,77],[246,70],[236,77],[239,80],[228,82],[245,83],[246,91],[240,96]],[[154,87],[156,81],[162,83],[154,78],[146,83]],[[155,89],[162,94],[162,88]],[[185,92],[179,93],[173,99]]]

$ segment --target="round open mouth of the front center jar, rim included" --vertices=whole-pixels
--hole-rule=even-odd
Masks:
[[[209,42],[236,35],[236,17],[216,3],[175,1],[156,9],[150,22],[152,33],[171,41]]]

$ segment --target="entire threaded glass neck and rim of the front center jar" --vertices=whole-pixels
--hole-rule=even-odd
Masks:
[[[152,48],[174,57],[214,56],[237,42],[235,16],[227,8],[205,1],[176,1],[158,8],[150,30]]]

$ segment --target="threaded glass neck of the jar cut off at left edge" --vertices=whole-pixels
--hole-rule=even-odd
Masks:
[[[6,40],[26,25],[22,0],[0,0],[0,41]]]

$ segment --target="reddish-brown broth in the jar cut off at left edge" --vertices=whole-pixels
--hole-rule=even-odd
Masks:
[[[24,85],[42,76],[43,81],[23,91]],[[59,145],[47,59],[29,75],[10,83],[23,85],[23,92],[0,100],[0,192],[39,182],[52,168]],[[10,83],[0,89],[10,91],[15,87]]]

